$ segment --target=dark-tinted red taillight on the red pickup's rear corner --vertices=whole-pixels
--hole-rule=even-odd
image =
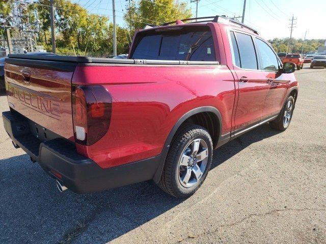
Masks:
[[[101,85],[72,87],[72,116],[75,141],[91,145],[101,139],[111,120],[112,97]]]

